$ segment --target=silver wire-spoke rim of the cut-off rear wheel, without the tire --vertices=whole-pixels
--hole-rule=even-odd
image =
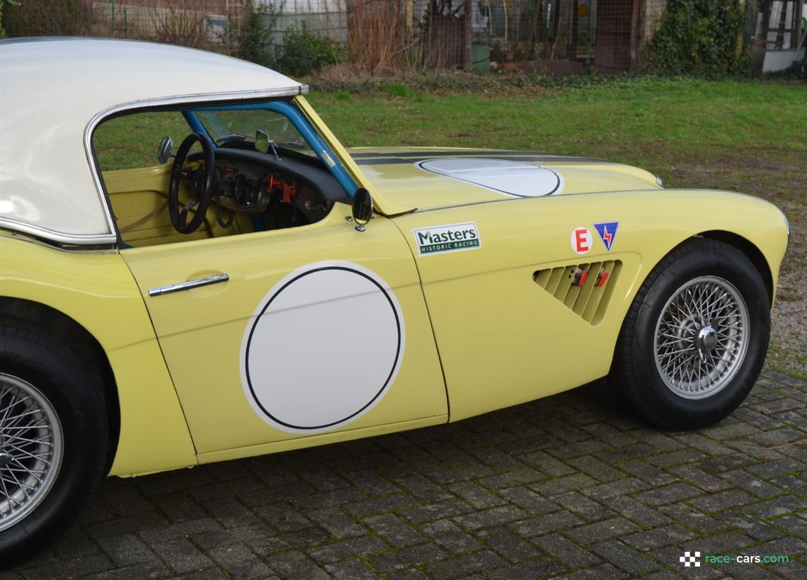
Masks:
[[[0,372],[0,532],[48,496],[64,454],[61,422],[36,387]]]

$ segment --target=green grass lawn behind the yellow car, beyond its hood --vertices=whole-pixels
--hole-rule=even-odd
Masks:
[[[454,145],[592,156],[665,187],[743,191],[792,226],[768,364],[807,379],[807,86],[633,78],[491,96],[418,90],[313,93],[345,145]]]

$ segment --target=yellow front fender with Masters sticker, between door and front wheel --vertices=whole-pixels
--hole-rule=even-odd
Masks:
[[[659,204],[659,196],[667,204]],[[729,205],[733,209],[726,212]],[[694,207],[698,212],[688,209]],[[774,283],[787,243],[783,218],[771,204],[721,191],[504,200],[400,216],[395,225],[416,254],[412,229],[467,221],[479,229],[478,250],[416,258],[452,421],[606,375],[622,320],[643,279],[689,237],[713,230],[738,234],[769,258]],[[611,251],[595,240],[590,253],[575,254],[572,229],[593,230],[592,224],[601,221],[619,221]],[[604,315],[594,324],[533,279],[538,271],[604,261],[617,261],[621,269],[612,276]]]

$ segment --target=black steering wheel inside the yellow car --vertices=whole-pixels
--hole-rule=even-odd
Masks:
[[[204,166],[196,171],[187,171],[183,168],[188,157],[190,147],[196,141],[202,145],[204,153]],[[190,201],[179,208],[179,182],[181,179],[190,179]],[[207,208],[213,199],[215,188],[215,156],[213,155],[213,143],[210,137],[203,133],[190,133],[179,145],[177,156],[174,158],[174,166],[171,168],[171,181],[168,187],[168,215],[171,218],[171,225],[179,233],[194,233],[205,218]],[[196,208],[194,216],[188,221],[188,212]]]

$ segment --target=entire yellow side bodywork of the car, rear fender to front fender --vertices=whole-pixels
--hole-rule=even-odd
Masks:
[[[360,232],[349,221],[349,205],[337,203],[311,225],[264,232],[252,232],[249,220],[224,229],[210,218],[207,229],[189,239],[174,233],[161,211],[169,177],[169,166],[161,166],[104,176],[119,227],[126,229],[123,241],[134,247],[70,252],[12,233],[0,236],[2,296],[65,313],[107,354],[121,415],[111,474],[454,421],[604,376],[642,281],[689,237],[720,232],[742,238],[759,250],[770,270],[767,282],[776,288],[787,235],[782,214],[762,200],[659,190],[642,170],[573,161],[555,166],[566,171],[564,195],[506,199],[417,173],[407,163],[362,167],[304,99],[295,101],[358,185],[374,195],[377,210],[395,217],[378,215]],[[619,223],[610,251],[595,234],[592,250],[575,254],[572,231],[584,226],[593,232],[593,224],[604,221]],[[471,222],[479,247],[419,254],[414,229]],[[394,384],[370,412],[330,432],[300,435],[278,431],[250,407],[239,348],[270,288],[320,260],[356,263],[387,281],[405,319],[406,350]],[[596,312],[585,305],[575,310],[574,296],[559,299],[554,288],[559,276],[591,263],[603,263],[612,278],[607,291],[594,288],[593,280],[575,289],[574,296],[597,298]],[[229,275],[226,284],[149,296],[152,288],[222,273]],[[355,372],[362,372],[361,364]]]

